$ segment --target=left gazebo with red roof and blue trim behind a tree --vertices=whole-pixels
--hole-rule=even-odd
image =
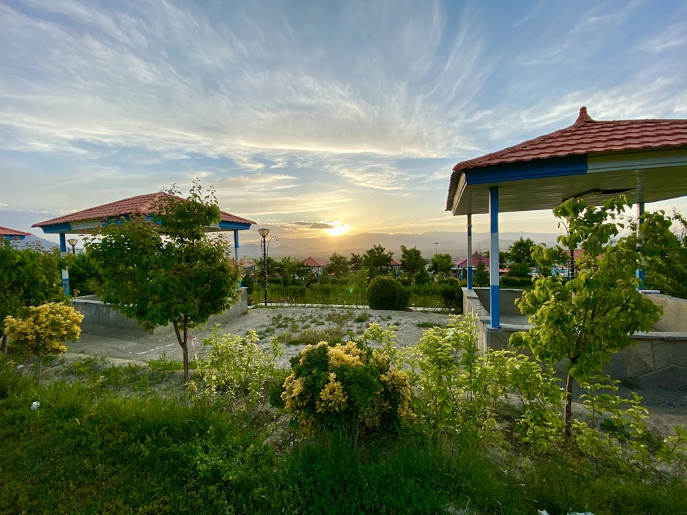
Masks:
[[[124,218],[131,219],[133,216],[144,216],[147,220],[153,220],[153,207],[161,197],[171,196],[165,192],[138,195],[124,198],[121,201],[111,202],[96,207],[90,207],[83,211],[77,211],[65,216],[58,216],[52,220],[38,222],[32,227],[40,227],[44,233],[60,235],[60,251],[67,251],[67,234],[97,233],[110,223],[117,222]],[[182,199],[183,200],[183,199]],[[234,254],[238,261],[238,231],[245,231],[251,228],[256,222],[241,218],[225,211],[220,211],[220,221],[207,227],[208,232],[234,231]],[[160,227],[160,232],[164,233],[164,227]],[[63,271],[63,288],[69,295],[69,276]]]

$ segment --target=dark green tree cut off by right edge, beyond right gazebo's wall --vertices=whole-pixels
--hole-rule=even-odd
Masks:
[[[675,212],[675,242],[665,253],[646,260],[646,288],[687,299],[687,220]]]

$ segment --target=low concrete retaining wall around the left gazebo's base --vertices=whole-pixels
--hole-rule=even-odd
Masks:
[[[76,297],[71,301],[75,310],[84,314],[81,330],[91,334],[108,334],[113,330],[142,331],[148,334],[170,334],[174,332],[172,324],[159,326],[152,331],[146,331],[137,321],[126,317],[115,310],[111,304],[103,304],[95,295]],[[239,317],[248,312],[248,294],[246,288],[241,288],[240,297],[236,304],[223,313],[215,314],[207,321],[207,325],[221,323]]]

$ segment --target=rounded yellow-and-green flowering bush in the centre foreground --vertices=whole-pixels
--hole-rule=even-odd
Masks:
[[[407,374],[390,365],[386,350],[363,343],[368,336],[335,345],[322,341],[291,358],[282,400],[301,434],[385,431],[415,416]]]

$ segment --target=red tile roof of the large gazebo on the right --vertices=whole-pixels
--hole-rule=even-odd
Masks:
[[[498,152],[462,161],[454,171],[489,165],[644,148],[687,146],[687,119],[633,119],[599,122],[581,107],[570,127]]]

